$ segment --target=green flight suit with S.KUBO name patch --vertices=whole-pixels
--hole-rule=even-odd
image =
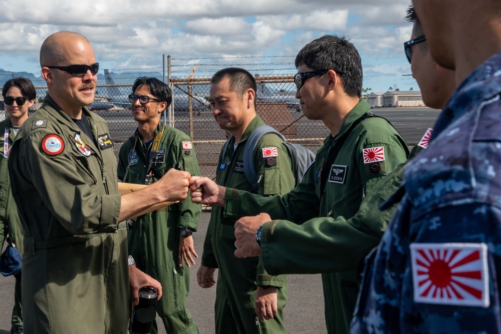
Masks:
[[[223,216],[256,215],[267,212],[272,219],[285,219],[301,224],[316,217],[353,217],[367,192],[387,171],[407,160],[409,150],[403,138],[384,119],[368,118],[346,138],[330,168],[324,193],[320,194],[320,171],[330,149],[353,124],[368,112],[370,106],[361,100],[347,115],[336,137],[330,135],[317,151],[315,163],[303,181],[284,196],[262,198],[235,189],[226,190]],[[381,150],[380,148],[383,148]],[[384,151],[384,160],[381,152]],[[377,161],[377,160],[380,161]],[[366,163],[367,162],[367,163]],[[347,240],[354,247],[364,240]],[[346,256],[349,256],[346,254]],[[351,268],[356,268],[353,263]],[[278,274],[280,271],[272,271]],[[306,271],[307,272],[307,271]],[[329,333],[347,333],[358,295],[355,270],[322,274],[326,325]]]

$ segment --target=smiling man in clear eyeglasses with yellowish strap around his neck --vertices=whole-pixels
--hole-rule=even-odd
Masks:
[[[124,142],[118,156],[118,179],[136,184],[157,182],[170,168],[200,175],[195,149],[185,133],[161,123],[172,103],[172,90],[156,78],[136,79],[129,95],[137,130]],[[156,305],[168,333],[198,333],[186,308],[190,264],[198,257],[191,234],[196,231],[201,205],[188,198],[129,220],[129,254],[138,268],[157,279],[167,298]],[[183,260],[186,268],[183,266]],[[177,297],[173,297],[177,296]],[[156,321],[152,333],[158,332]]]

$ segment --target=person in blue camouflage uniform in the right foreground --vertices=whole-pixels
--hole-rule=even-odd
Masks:
[[[386,204],[402,199],[366,260],[351,331],[500,332],[501,6],[413,3],[458,88]]]

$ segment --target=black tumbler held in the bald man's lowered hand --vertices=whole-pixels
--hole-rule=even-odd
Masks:
[[[139,303],[132,311],[132,334],[149,334],[156,317],[157,290],[151,286],[139,289]]]

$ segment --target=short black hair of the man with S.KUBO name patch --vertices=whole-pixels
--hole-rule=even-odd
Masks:
[[[308,43],[296,56],[295,64],[296,68],[304,64],[314,71],[334,70],[348,96],[362,96],[362,61],[345,37],[325,35]]]

